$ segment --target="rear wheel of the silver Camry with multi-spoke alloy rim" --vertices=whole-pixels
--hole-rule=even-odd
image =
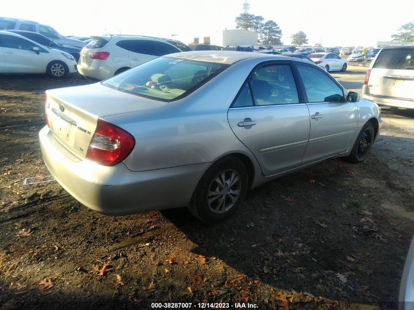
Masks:
[[[248,176],[243,162],[227,156],[204,173],[188,206],[195,217],[207,223],[219,223],[240,207],[247,191]]]

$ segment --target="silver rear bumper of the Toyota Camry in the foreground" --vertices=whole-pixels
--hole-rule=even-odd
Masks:
[[[45,126],[39,132],[43,159],[57,182],[88,208],[128,215],[186,206],[209,163],[133,172],[123,163],[104,167],[74,157]]]

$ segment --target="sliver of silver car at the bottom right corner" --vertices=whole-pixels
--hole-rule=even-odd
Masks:
[[[400,310],[414,309],[414,237],[405,261],[398,301]]]

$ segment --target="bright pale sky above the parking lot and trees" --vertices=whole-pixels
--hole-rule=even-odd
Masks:
[[[0,15],[49,24],[63,35],[198,36],[235,29],[244,0],[0,0]],[[304,31],[309,45],[376,46],[414,20],[413,0],[248,0],[248,13],[276,22],[282,42]],[[184,42],[188,44],[189,42]]]

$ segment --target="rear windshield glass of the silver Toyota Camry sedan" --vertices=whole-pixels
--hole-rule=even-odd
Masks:
[[[160,57],[102,82],[102,85],[161,101],[182,98],[229,65]]]

